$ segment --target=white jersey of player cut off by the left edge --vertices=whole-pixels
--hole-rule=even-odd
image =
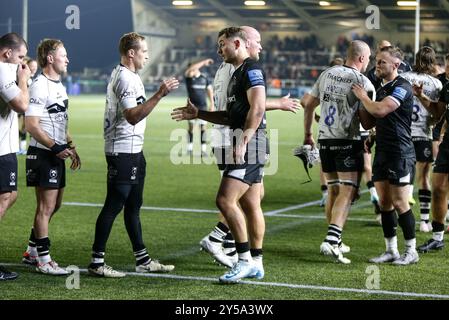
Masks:
[[[8,106],[20,94],[16,79],[17,65],[0,62],[0,156],[19,151],[17,113]]]

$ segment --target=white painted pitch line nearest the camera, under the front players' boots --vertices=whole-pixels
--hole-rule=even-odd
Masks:
[[[25,267],[23,264],[17,264],[17,263],[2,263],[2,265],[11,266],[11,267]],[[87,273],[87,269],[79,269],[79,270],[80,270],[80,272]],[[181,275],[175,275],[175,274],[151,274],[151,273],[137,273],[137,272],[124,272],[124,273],[126,275],[135,276],[135,277],[218,282],[217,278],[210,278],[210,277],[181,276]],[[282,283],[282,282],[241,281],[240,283],[247,284],[247,285],[255,285],[255,286],[283,287],[283,288],[290,288],[290,289],[352,292],[352,293],[360,293],[360,294],[376,294],[376,295],[414,297],[414,298],[449,299],[449,295],[434,294],[434,293],[401,292],[401,291],[388,291],[388,290],[368,290],[368,289],[356,289],[356,288],[338,288],[338,287],[325,287],[325,286]]]

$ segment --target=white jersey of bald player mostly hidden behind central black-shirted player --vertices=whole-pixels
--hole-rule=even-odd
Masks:
[[[226,111],[228,84],[234,73],[234,66],[222,62],[214,78],[214,105],[216,111]],[[214,124],[210,144],[214,148],[223,148],[231,145],[229,127]]]

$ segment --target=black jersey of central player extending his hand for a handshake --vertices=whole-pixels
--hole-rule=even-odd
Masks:
[[[243,129],[246,116],[250,108],[246,92],[252,87],[265,84],[265,73],[260,65],[250,58],[245,59],[243,64],[232,74],[228,85],[228,101],[226,111],[230,119],[231,129]],[[266,128],[265,113],[258,129]]]

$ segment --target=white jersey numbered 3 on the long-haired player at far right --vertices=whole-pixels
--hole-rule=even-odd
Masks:
[[[401,73],[401,77],[406,79],[412,85],[414,83],[423,84],[423,92],[432,101],[438,101],[443,85],[440,80],[428,74],[416,73],[409,71]],[[431,115],[422,105],[421,101],[413,96],[413,113],[412,113],[412,137],[421,137],[432,139],[432,126],[430,125]]]

